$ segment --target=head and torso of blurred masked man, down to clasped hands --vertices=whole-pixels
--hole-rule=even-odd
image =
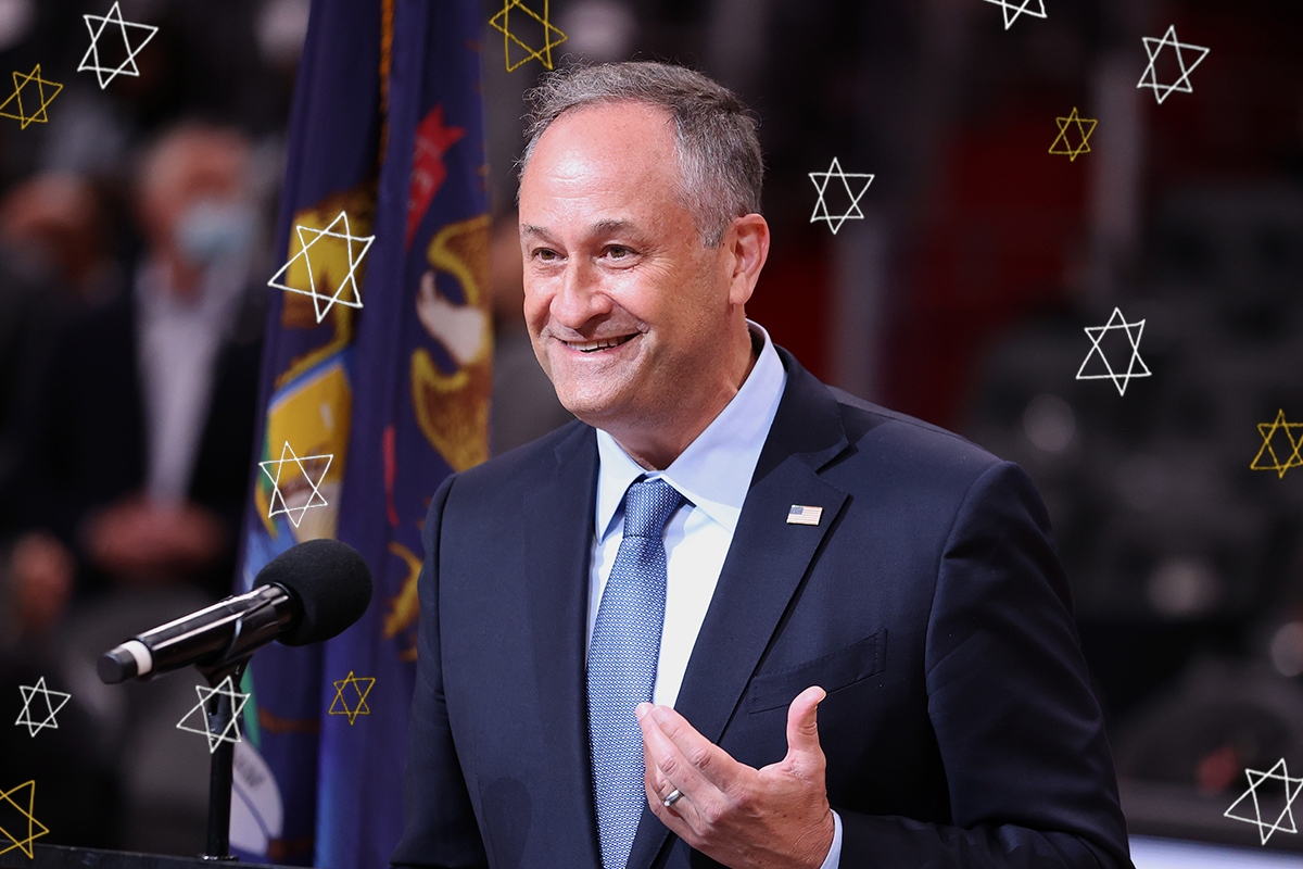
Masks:
[[[10,588],[36,598],[33,632],[69,598],[229,591],[261,354],[248,168],[235,130],[164,133],[134,184],[145,248],[129,291],[55,343],[3,492],[31,555]]]

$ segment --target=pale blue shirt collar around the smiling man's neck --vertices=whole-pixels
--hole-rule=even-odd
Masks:
[[[623,513],[624,492],[638,477],[665,478],[730,534],[737,528],[751,478],[787,384],[787,371],[762,326],[747,321],[764,340],[756,365],[737,395],[665,470],[648,472],[606,431],[597,431],[597,537],[605,539]]]

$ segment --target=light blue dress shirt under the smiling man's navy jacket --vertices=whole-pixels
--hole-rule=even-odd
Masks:
[[[685,503],[666,524],[666,602],[661,657],[657,662],[653,702],[674,706],[688,658],[715,593],[719,572],[732,545],[737,517],[751,489],[760,452],[778,413],[787,371],[774,343],[758,323],[747,321],[764,347],[737,395],[706,430],[688,444],[665,470],[649,472],[598,429],[597,526],[589,573],[588,640],[593,640],[597,610],[624,538],[624,492],[638,477],[663,478]],[[834,812],[837,831],[822,869],[838,869],[842,856],[842,818]]]

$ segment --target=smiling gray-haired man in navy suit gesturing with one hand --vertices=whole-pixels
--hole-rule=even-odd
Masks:
[[[434,498],[394,862],[1128,866],[1040,499],[747,321],[761,175],[696,73],[534,95],[525,314],[580,422]]]

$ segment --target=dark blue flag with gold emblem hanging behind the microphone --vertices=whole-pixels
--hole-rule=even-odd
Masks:
[[[270,276],[241,584],[336,537],[375,578],[327,644],[245,676],[232,847],[379,868],[401,834],[421,522],[487,456],[491,331],[473,0],[314,0]]]

